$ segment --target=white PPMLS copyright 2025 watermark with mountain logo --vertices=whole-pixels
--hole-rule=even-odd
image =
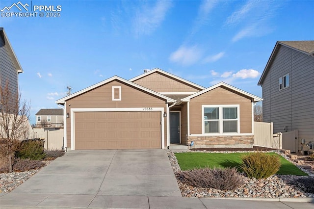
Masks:
[[[1,17],[60,17],[61,5],[38,5],[33,1],[22,3],[21,1],[3,7]]]

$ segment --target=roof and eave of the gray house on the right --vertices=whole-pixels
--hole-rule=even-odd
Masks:
[[[308,56],[314,55],[314,41],[277,41],[276,45],[275,45],[273,51],[271,52],[271,55],[267,61],[267,64],[266,64],[265,69],[262,73],[262,76],[258,82],[258,85],[262,85],[263,80],[264,80],[266,74],[268,73],[269,68],[272,64],[273,58],[276,56],[280,46],[288,47],[288,48],[293,49],[295,51],[302,52]]]

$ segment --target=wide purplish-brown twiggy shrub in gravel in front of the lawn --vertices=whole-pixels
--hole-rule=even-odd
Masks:
[[[183,171],[180,174],[183,183],[202,188],[233,190],[244,183],[244,179],[236,168],[200,168]]]

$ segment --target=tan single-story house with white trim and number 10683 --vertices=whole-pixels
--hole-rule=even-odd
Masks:
[[[224,82],[205,88],[158,68],[114,76],[56,101],[71,150],[252,147],[253,104],[262,99]]]

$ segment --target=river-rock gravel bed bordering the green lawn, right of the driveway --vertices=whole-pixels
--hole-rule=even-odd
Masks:
[[[186,152],[186,151],[185,151]],[[204,152],[204,153],[232,153],[230,151],[188,151],[188,152]],[[240,151],[241,153],[245,152],[254,152],[254,151]],[[266,152],[276,152],[281,156],[285,157],[287,160],[289,158],[285,156],[280,151],[266,151]],[[174,153],[170,150],[167,150],[170,163],[172,165],[173,171],[177,177],[179,187],[183,197],[250,197],[250,198],[305,198],[305,197],[314,197],[312,193],[303,192],[304,188],[296,187],[295,185],[289,184],[288,182],[295,178],[308,178],[308,177],[299,177],[292,175],[273,175],[267,179],[257,180],[243,177],[245,183],[238,189],[235,190],[218,190],[213,188],[199,188],[192,186],[187,183],[182,183],[178,178],[178,173],[181,172],[181,168],[178,164],[177,158]],[[291,160],[289,160],[291,161]],[[298,166],[299,167],[299,166]],[[305,169],[299,167],[304,172],[310,174]]]

